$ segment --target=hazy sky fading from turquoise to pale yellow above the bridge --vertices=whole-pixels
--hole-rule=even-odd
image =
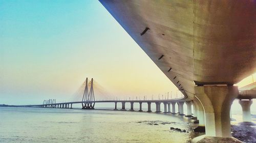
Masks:
[[[113,98],[176,93],[98,1],[0,0],[0,25],[0,104],[68,101],[86,77]]]

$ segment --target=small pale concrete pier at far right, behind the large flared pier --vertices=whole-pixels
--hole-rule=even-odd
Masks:
[[[243,122],[251,122],[250,106],[252,104],[252,100],[239,100],[238,103],[242,106]]]

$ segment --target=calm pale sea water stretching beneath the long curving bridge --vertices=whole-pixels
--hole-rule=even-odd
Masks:
[[[0,107],[0,142],[187,142],[184,120],[146,112]]]

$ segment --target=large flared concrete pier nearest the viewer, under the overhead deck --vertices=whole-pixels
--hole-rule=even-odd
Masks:
[[[231,137],[229,111],[238,87],[208,85],[195,87],[196,98],[205,111],[206,136]]]

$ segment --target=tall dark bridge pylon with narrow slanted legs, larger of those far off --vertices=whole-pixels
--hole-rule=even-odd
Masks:
[[[86,78],[86,87],[84,88],[82,97],[82,109],[94,109],[95,97],[93,91],[93,78],[91,80],[90,92],[88,91],[88,78]]]

